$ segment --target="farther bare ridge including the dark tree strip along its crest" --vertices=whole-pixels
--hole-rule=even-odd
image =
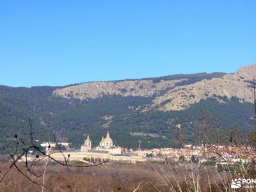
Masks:
[[[163,77],[150,77],[143,79],[125,79],[117,81],[94,81],[88,83],[75,84],[74,86],[65,86],[54,91],[53,95],[63,98],[97,99],[102,95],[122,95],[122,96],[142,96],[149,97],[154,93],[173,88],[175,84],[186,84],[190,79],[202,81],[212,77],[221,77],[225,73],[199,73],[199,74],[180,74]],[[144,85],[144,86],[143,86]],[[99,88],[100,87],[100,88]],[[145,90],[145,87],[147,90]],[[95,90],[96,89],[96,90]],[[97,90],[98,89],[98,90]],[[144,93],[141,93],[143,90]],[[149,92],[149,94],[147,94]]]

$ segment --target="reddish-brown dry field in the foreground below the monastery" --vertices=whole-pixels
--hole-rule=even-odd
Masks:
[[[0,164],[1,177],[8,166],[10,163]],[[42,184],[43,177],[29,174],[24,163],[18,166]],[[33,166],[33,172],[43,174],[44,164]],[[216,172],[214,166],[198,168],[191,164],[107,163],[92,168],[72,168],[50,163],[45,172],[44,191],[231,191],[232,177],[223,179],[224,176]],[[1,182],[0,191],[42,191],[42,186],[12,169]]]

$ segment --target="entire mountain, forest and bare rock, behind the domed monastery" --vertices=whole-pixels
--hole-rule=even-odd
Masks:
[[[0,152],[10,151],[13,135],[28,136],[33,119],[36,138],[61,141],[74,147],[90,134],[97,145],[111,132],[116,145],[175,146],[175,125],[182,124],[186,141],[202,109],[210,121],[228,132],[252,129],[253,77],[256,64],[235,74],[201,73],[145,79],[90,82],[63,87],[12,88],[0,86]],[[10,140],[11,139],[11,140]]]

